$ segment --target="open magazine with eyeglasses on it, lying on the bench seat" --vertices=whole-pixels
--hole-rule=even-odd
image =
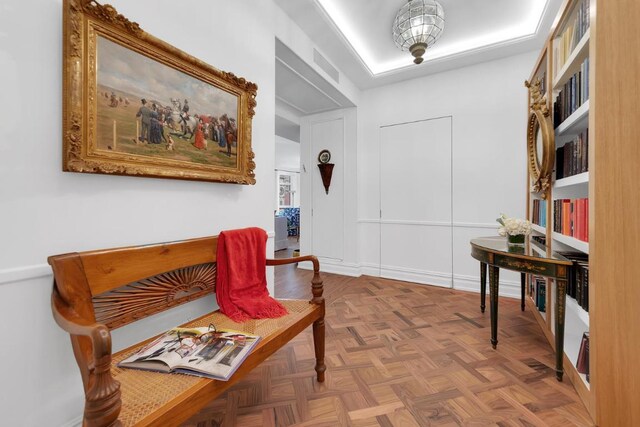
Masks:
[[[179,372],[227,381],[260,337],[212,328],[174,328],[153,340],[118,366],[158,372]]]

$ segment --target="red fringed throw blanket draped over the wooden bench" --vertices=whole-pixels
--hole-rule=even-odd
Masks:
[[[267,233],[252,227],[218,237],[216,299],[234,322],[281,317],[287,309],[267,291]]]

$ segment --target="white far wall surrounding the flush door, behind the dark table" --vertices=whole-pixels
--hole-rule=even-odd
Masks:
[[[358,248],[364,273],[379,274],[379,127],[452,116],[454,287],[479,289],[479,265],[469,255],[469,239],[496,235],[500,212],[525,214],[523,83],[535,59],[531,52],[363,92],[357,151]],[[501,272],[501,284],[502,293],[519,295],[514,273]]]

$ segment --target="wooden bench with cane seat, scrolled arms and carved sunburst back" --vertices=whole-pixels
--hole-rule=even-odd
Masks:
[[[218,311],[184,326],[231,328],[262,340],[229,381],[121,369],[116,364],[151,339],[111,353],[111,330],[215,292],[218,237],[49,257],[53,315],[69,332],[85,391],[84,426],[177,425],[239,381],[309,325],[316,376],[324,381],[324,298],[314,256],[267,260],[275,266],[313,263],[307,300],[280,300],[279,319],[232,322]]]

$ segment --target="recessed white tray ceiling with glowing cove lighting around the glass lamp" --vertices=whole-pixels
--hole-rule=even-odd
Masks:
[[[442,37],[413,64],[391,36],[406,0],[275,0],[361,89],[539,50],[562,0],[439,0]]]

